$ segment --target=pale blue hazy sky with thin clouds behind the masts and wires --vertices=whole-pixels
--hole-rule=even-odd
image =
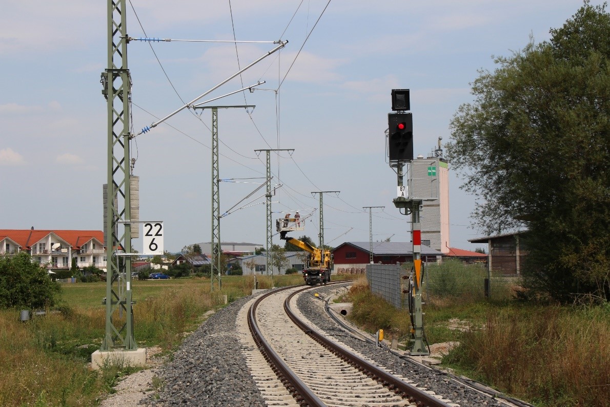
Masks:
[[[249,179],[221,183],[220,206],[228,210],[263,181],[256,178],[265,175],[265,159],[255,149],[295,149],[292,156],[271,158],[274,182],[284,185],[273,198],[274,218],[317,209],[312,191],[341,191],[324,196],[325,241],[331,246],[368,241],[368,212],[362,209],[367,206],[385,206],[373,214],[373,240],[410,239],[410,217],[393,207],[396,175],[384,158],[392,88],[411,90],[414,150],[426,155],[439,136],[449,140],[451,118],[460,104],[472,101],[470,83],[479,69],[494,68],[493,55],[522,49],[530,35],[547,40],[549,29],[583,4],[472,0],[373,6],[332,0],[303,46],[327,3],[232,0],[229,9],[226,0],[131,0],[127,30],[131,37],[146,32],[174,40],[232,40],[234,30],[237,40],[289,41],[242,76],[244,85],[267,81],[265,90],[217,102],[256,105],[251,115],[237,108],[219,112],[221,178]],[[106,68],[106,1],[10,0],[2,9],[0,228],[101,230],[107,129],[99,77]],[[235,73],[238,55],[245,66],[271,48],[241,43],[236,52],[229,43],[174,41],[152,44],[155,55],[150,44],[132,41],[135,132],[156,121],[152,115],[168,115]],[[238,77],[209,97],[241,87]],[[165,222],[166,250],[210,241],[210,123],[209,110],[200,117],[184,110],[132,144],[140,219]],[[481,236],[469,227],[475,200],[460,184],[451,171],[450,244],[473,250],[480,245],[468,239]],[[317,242],[317,212],[312,218],[304,233]],[[221,239],[264,243],[264,205],[223,218]],[[138,250],[141,245],[134,242]]]

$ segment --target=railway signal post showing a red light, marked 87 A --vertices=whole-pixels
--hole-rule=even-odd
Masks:
[[[387,146],[390,168],[397,173],[397,197],[393,199],[395,207],[401,214],[411,214],[413,225],[413,268],[409,284],[409,313],[411,314],[411,355],[429,355],[423,332],[422,312],[422,229],[420,226],[420,207],[422,199],[412,196],[409,183],[412,183],[413,161],[413,116],[406,113],[411,110],[408,89],[392,90],[392,110],[388,113]],[[407,175],[407,185],[404,185]]]

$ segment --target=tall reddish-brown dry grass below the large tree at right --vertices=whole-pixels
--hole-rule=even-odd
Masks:
[[[544,406],[610,406],[610,307],[505,307],[447,357]]]

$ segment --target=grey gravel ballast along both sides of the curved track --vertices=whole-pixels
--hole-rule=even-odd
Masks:
[[[316,292],[328,296],[337,286],[320,286]],[[242,345],[235,333],[235,318],[240,308],[251,297],[231,303],[209,317],[181,344],[173,358],[158,371],[163,386],[140,402],[146,406],[254,406],[264,407],[265,402],[251,378]],[[450,380],[436,369],[406,361],[392,353],[354,338],[338,328],[323,311],[322,301],[312,295],[298,299],[301,313],[352,349],[376,361],[393,373],[411,380],[428,390],[466,406],[506,406],[461,383]]]

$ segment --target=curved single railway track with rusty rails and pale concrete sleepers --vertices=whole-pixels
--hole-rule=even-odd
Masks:
[[[248,367],[267,405],[456,406],[315,330],[295,306],[307,289],[270,292],[237,316]]]

